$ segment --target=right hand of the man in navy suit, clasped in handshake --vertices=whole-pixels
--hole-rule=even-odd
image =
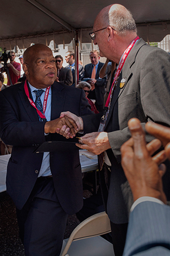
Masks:
[[[44,133],[59,133],[66,137],[66,139],[73,138],[77,130],[76,122],[66,116],[46,122],[44,126]]]

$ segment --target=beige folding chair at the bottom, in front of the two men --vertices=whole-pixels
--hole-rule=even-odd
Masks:
[[[63,240],[60,256],[114,256],[112,243],[100,237],[109,232],[111,224],[108,215],[97,213],[81,222],[70,238]]]

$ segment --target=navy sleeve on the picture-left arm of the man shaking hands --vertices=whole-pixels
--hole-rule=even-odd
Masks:
[[[0,93],[0,137],[2,141],[11,146],[32,146],[32,144],[45,142],[45,122],[19,121],[18,105],[11,104],[8,100],[10,94],[7,96],[3,92]]]

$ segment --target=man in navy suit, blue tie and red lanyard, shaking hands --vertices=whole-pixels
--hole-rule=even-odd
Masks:
[[[57,256],[67,214],[78,212],[83,204],[79,152],[64,143],[52,152],[34,151],[45,141],[74,137],[75,122],[59,118],[63,110],[78,115],[91,110],[83,90],[54,82],[56,63],[49,47],[35,44],[23,59],[27,80],[0,93],[0,136],[13,146],[7,192],[16,205],[25,255]],[[66,138],[57,134],[62,126]]]

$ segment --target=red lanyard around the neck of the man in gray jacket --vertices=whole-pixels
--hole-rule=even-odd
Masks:
[[[126,49],[126,51],[125,51],[125,53],[124,53],[124,55],[123,55],[123,57],[122,57],[121,63],[120,63],[120,65],[118,66],[118,69],[117,69],[117,72],[116,72],[116,76],[114,77],[113,84],[112,84],[111,90],[110,90],[110,92],[109,92],[109,96],[108,96],[108,98],[107,98],[107,102],[106,102],[106,104],[105,104],[106,107],[108,107],[109,102],[110,102],[111,92],[112,92],[112,88],[113,88],[114,82],[116,81],[117,77],[120,75],[120,72],[121,72],[122,68],[124,67],[125,61],[126,61],[128,55],[129,55],[131,49],[133,48],[135,42],[137,42],[137,40],[139,40],[139,36],[137,36],[137,38],[135,38],[135,39],[131,42],[131,44],[128,46],[128,48]]]

